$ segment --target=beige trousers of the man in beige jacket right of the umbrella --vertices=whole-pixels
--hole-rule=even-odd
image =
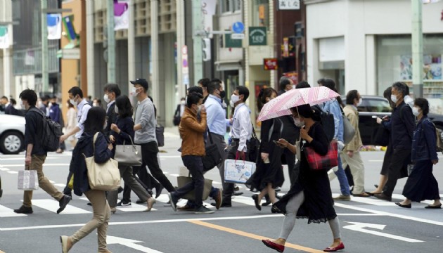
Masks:
[[[354,151],[354,155],[349,157],[345,150],[343,150],[340,157],[342,158],[343,169],[349,165],[352,177],[354,178],[354,189],[352,190],[352,194],[364,193],[364,165],[363,160],[361,160],[360,152]]]

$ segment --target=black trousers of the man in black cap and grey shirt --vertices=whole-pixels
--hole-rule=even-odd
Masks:
[[[141,156],[143,157],[143,163],[139,169],[139,175],[142,175],[143,177],[144,173],[148,174],[148,171],[146,170],[146,166],[148,166],[153,177],[157,179],[169,193],[173,192],[175,190],[174,186],[172,186],[172,183],[167,179],[165,174],[163,174],[163,171],[158,164],[157,143],[155,141],[150,141],[139,145],[141,145]]]

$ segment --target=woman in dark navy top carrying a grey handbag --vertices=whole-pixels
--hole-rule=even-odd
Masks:
[[[115,113],[117,114],[117,122],[111,124],[110,129],[110,141],[116,145],[122,145],[123,143],[133,143],[134,142],[134,121],[132,120],[132,114],[134,110],[131,105],[131,101],[125,95],[118,96],[115,100]],[[118,169],[120,170],[120,176],[124,180],[124,185],[128,186],[134,193],[139,196],[139,199],[143,203],[147,203],[147,208],[145,212],[150,212],[155,203],[155,198],[152,197],[148,191],[141,186],[139,181],[136,180],[131,166],[119,164]],[[117,211],[117,197],[118,190],[113,190],[108,194],[109,206],[111,212],[115,214]]]

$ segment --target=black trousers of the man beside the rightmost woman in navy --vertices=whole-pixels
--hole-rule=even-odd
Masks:
[[[394,192],[397,180],[407,176],[407,164],[411,163],[411,149],[394,149],[392,152],[391,164],[387,173],[387,182],[383,193],[391,196]]]

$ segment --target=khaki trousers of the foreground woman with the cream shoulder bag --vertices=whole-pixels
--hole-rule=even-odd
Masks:
[[[74,245],[97,228],[98,252],[105,252],[108,250],[108,247],[106,247],[106,233],[110,217],[110,207],[108,200],[106,200],[105,191],[88,190],[84,195],[91,202],[94,217],[75,232],[74,235],[71,235],[70,240],[72,245]]]

